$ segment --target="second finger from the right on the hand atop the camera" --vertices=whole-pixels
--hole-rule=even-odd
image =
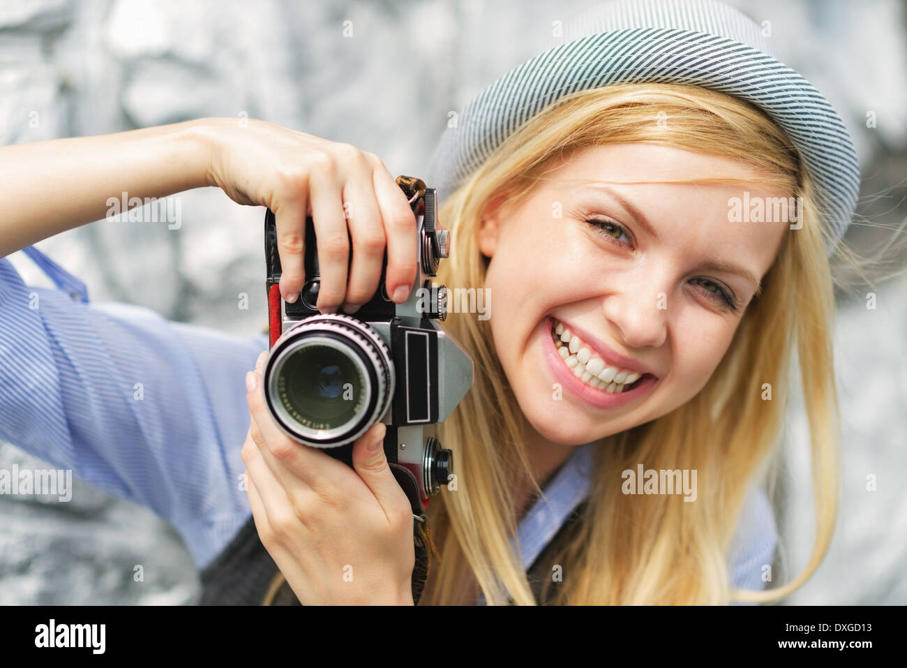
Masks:
[[[365,178],[367,182],[347,182],[344,192],[349,212],[347,227],[353,240],[353,262],[343,305],[347,313],[355,313],[375,295],[385,258],[385,230],[371,187],[370,169]]]

